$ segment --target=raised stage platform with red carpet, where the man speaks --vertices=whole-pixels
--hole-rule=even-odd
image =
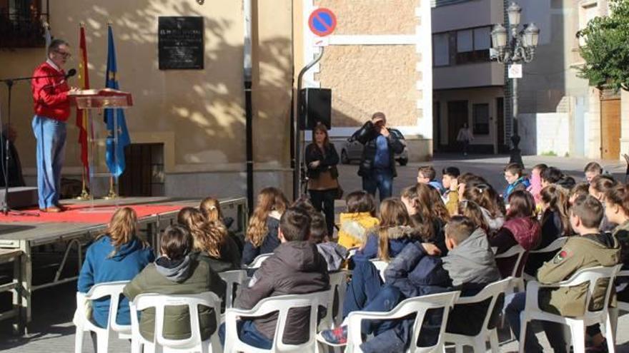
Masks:
[[[39,213],[39,210],[24,210],[31,215],[0,215],[0,250],[19,250],[14,262],[13,305],[17,313],[16,332],[24,333],[31,322],[31,293],[45,287],[76,280],[79,274],[86,245],[107,227],[107,222],[117,207],[129,206],[138,213],[139,236],[151,245],[159,243],[159,235],[168,225],[176,222],[177,213],[183,207],[198,207],[200,200],[178,198],[119,198],[118,200],[91,201],[62,200],[69,208],[64,213]],[[234,218],[232,230],[244,233],[247,227],[247,200],[233,198],[221,200],[225,217]],[[46,256],[39,248],[48,245],[52,251],[61,253],[61,261],[54,261],[57,267],[53,278],[33,285],[33,263]],[[153,246],[155,249],[156,247]],[[76,266],[67,275],[66,264],[69,258],[76,257]],[[41,262],[39,260],[39,262]],[[1,287],[1,286],[0,286]],[[14,315],[11,315],[14,316]],[[0,319],[8,317],[2,317]]]

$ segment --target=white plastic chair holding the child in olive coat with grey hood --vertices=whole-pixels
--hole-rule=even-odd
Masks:
[[[175,305],[187,305],[190,317],[190,329],[192,334],[186,339],[164,338],[164,308]],[[199,324],[199,305],[210,307],[214,310],[215,320],[220,324],[219,313],[221,312],[221,300],[213,292],[203,292],[197,295],[159,295],[147,293],[138,295],[133,302],[129,302],[131,307],[131,328],[132,342],[131,352],[221,352],[218,332],[214,332],[209,339],[201,341],[201,329]],[[149,341],[140,334],[138,312],[155,308],[155,327],[153,340]]]

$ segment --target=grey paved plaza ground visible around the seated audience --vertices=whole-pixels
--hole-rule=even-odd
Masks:
[[[435,166],[438,174],[446,166],[457,166],[465,172],[477,173],[487,178],[495,188],[502,190],[505,187],[505,180],[502,178],[502,168],[508,161],[505,156],[467,156],[461,155],[439,155],[430,163],[411,163],[405,167],[398,168],[398,178],[394,183],[394,195],[399,195],[400,190],[405,186],[415,183],[417,176],[417,166],[431,164]],[[537,163],[547,163],[554,165],[566,173],[573,175],[577,180],[583,178],[583,166],[589,160],[574,158],[553,158],[553,157],[525,157],[524,162],[527,167]],[[625,164],[620,161],[599,161],[606,170],[613,173],[619,180],[625,178]],[[340,182],[346,193],[352,190],[360,190],[360,178],[356,175],[357,165],[340,166]],[[342,201],[336,204],[337,214],[344,208]],[[34,292],[33,295],[33,322],[29,327],[29,333],[24,337],[11,336],[11,323],[0,322],[0,352],[73,352],[74,351],[74,326],[71,322],[74,309],[76,283],[60,285]],[[0,297],[3,301],[9,302],[10,297]],[[0,304],[0,305],[4,305]],[[618,322],[618,352],[629,352],[629,315],[626,313],[620,317]],[[506,340],[506,332],[502,332],[502,340]],[[550,352],[550,345],[545,335],[538,333],[540,342]],[[129,352],[129,342],[119,339],[112,339],[110,352]],[[452,350],[453,349],[449,349]],[[509,342],[501,346],[502,352],[517,350],[516,342]],[[93,352],[89,338],[85,338],[83,352]],[[470,351],[471,352],[471,351]]]

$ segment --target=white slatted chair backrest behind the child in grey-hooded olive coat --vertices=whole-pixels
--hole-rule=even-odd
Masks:
[[[144,343],[157,343],[162,347],[172,348],[190,348],[197,347],[201,344],[201,329],[199,325],[199,305],[214,309],[214,315],[217,324],[221,322],[219,314],[221,312],[221,300],[213,292],[203,292],[197,295],[159,295],[155,293],[147,293],[138,295],[133,302],[129,303],[131,307],[131,327],[133,339],[139,339]],[[192,334],[186,339],[167,339],[164,338],[164,307],[187,305],[190,317],[190,330]],[[155,327],[154,342],[147,342],[139,332],[138,312],[155,308]]]

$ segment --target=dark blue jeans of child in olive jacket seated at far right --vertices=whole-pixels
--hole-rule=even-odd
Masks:
[[[508,299],[507,299],[508,300]],[[520,313],[524,311],[526,304],[526,293],[520,292],[516,293],[513,297],[509,305],[505,308],[505,316],[509,325],[511,326],[511,330],[517,339],[520,339]],[[560,353],[566,352],[565,350],[565,337],[563,335],[563,327],[561,324],[557,324],[555,322],[543,321],[542,326],[544,327],[544,332],[546,337],[548,337],[548,342],[550,342],[550,346],[553,347],[553,351]],[[525,337],[525,352],[543,352],[543,347],[540,345],[538,341],[538,337],[535,336],[535,332],[533,332],[530,324],[526,327],[526,337]]]

